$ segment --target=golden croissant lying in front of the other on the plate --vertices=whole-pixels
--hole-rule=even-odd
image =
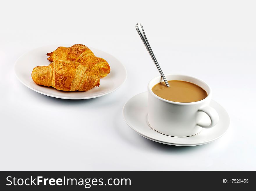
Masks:
[[[37,66],[31,76],[36,84],[65,91],[87,91],[99,87],[100,79],[95,71],[71,60],[56,60],[49,66]]]

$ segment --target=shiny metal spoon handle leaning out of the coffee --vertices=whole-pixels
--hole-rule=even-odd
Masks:
[[[166,77],[164,76],[163,71],[161,70],[161,68],[160,68],[160,66],[159,66],[159,64],[157,62],[157,59],[156,59],[156,57],[155,57],[155,55],[154,55],[154,53],[153,53],[153,51],[152,51],[148,41],[147,41],[147,37],[146,37],[145,32],[143,30],[143,26],[140,23],[136,24],[136,30],[139,33],[139,35],[141,37],[141,40],[143,41],[145,47],[147,48],[147,51],[150,54],[152,60],[154,61],[158,71],[160,72],[160,74],[161,74],[161,76],[163,78],[163,81],[165,82],[166,86],[168,88],[170,88],[170,85],[169,85],[168,81],[166,80]]]

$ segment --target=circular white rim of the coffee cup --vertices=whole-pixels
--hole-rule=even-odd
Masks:
[[[167,103],[172,103],[172,104],[175,104],[175,105],[195,105],[195,104],[199,104],[199,103],[202,103],[202,102],[205,102],[207,99],[209,99],[211,97],[211,94],[212,94],[212,91],[211,91],[211,87],[203,80],[199,79],[199,78],[196,78],[194,76],[190,76],[190,75],[184,75],[184,74],[165,74],[165,76],[186,76],[186,77],[190,77],[190,78],[194,78],[198,81],[201,81],[202,83],[204,83],[208,88],[209,88],[209,94],[208,96],[205,98],[205,99],[202,99],[200,101],[195,101],[195,102],[176,102],[176,101],[170,101],[170,100],[167,100],[167,99],[163,99],[161,97],[159,97],[158,95],[154,94],[154,92],[152,91],[152,88],[150,88],[150,83],[157,79],[157,78],[162,78],[161,76],[156,76],[154,78],[152,78],[149,83],[147,84],[147,91],[150,92],[150,94],[152,94],[154,97],[156,97],[157,99],[160,99],[161,101],[164,101],[164,102],[167,102]],[[163,80],[162,80],[163,81]],[[184,81],[184,80],[183,80]],[[197,84],[196,84],[197,85]],[[201,87],[201,86],[199,86]]]

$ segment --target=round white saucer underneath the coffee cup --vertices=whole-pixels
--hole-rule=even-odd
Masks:
[[[195,146],[212,142],[223,136],[229,127],[230,118],[226,110],[216,101],[211,100],[210,106],[219,114],[219,122],[210,129],[190,137],[171,137],[163,135],[147,124],[147,92],[140,93],[129,99],[123,107],[125,122],[141,136],[164,144],[176,146]]]

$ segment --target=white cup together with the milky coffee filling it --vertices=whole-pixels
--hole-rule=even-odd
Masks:
[[[148,83],[148,123],[157,132],[173,137],[192,136],[218,123],[218,113],[210,106],[211,88],[204,81],[186,75],[165,75]],[[204,116],[209,116],[207,122]]]

